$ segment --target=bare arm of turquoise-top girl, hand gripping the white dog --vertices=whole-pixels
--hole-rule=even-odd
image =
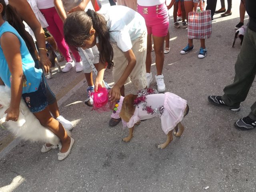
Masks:
[[[11,42],[11,43],[10,43]],[[4,57],[8,63],[8,68],[12,75],[11,81],[11,102],[10,107],[5,111],[7,113],[6,121],[17,121],[19,117],[20,99],[22,96],[22,59],[20,54],[20,41],[18,37],[11,32],[5,32],[0,39]]]

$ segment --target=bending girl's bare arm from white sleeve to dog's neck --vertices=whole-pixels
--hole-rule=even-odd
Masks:
[[[116,82],[114,87],[109,92],[109,95],[110,95],[109,98],[110,98],[111,102],[116,102],[117,100],[120,99],[120,89],[124,85],[126,79],[131,74],[134,66],[136,65],[136,58],[131,49],[124,52],[124,55],[125,55],[126,59],[128,60],[128,64],[127,64],[122,76],[118,80],[118,82]]]

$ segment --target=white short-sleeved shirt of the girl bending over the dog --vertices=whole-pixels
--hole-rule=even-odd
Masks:
[[[110,6],[103,16],[110,27],[110,41],[123,52],[132,48],[132,40],[147,31],[144,18],[126,6]]]

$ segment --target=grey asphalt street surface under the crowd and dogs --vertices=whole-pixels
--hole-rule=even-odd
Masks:
[[[107,0],[102,4],[103,8],[109,6]],[[187,44],[187,30],[174,28],[170,10],[170,53],[165,55],[163,70],[166,91],[186,99],[190,106],[180,138],[174,137],[167,148],[158,149],[166,135],[160,119],[153,118],[136,126],[130,142],[123,142],[128,129],[121,123],[108,126],[110,113],[97,113],[85,106],[84,74],[76,73],[75,68],[67,73],[55,69],[48,83],[61,114],[74,124],[72,151],[58,161],[58,149],[41,153],[41,143],[13,140],[6,130],[0,130],[0,192],[256,191],[256,130],[240,131],[233,125],[250,112],[256,98],[255,82],[240,112],[207,100],[210,94],[222,95],[224,86],[233,81],[240,52],[239,40],[232,48],[239,4],[233,1],[231,16],[214,15],[203,59],[197,57],[199,40],[194,40],[193,51],[180,54]],[[154,53],[152,56],[155,75]],[[65,63],[61,64],[63,68]],[[111,70],[106,70],[105,80],[113,84]],[[151,86],[156,88],[155,80]],[[136,90],[127,84],[125,92],[135,94]]]

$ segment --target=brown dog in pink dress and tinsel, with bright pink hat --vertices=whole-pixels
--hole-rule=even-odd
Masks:
[[[101,105],[98,101],[106,101],[104,90],[98,90],[91,96],[94,100],[94,110],[104,112],[112,108],[113,104],[107,102]],[[106,95],[101,97],[102,95]],[[104,103],[103,102],[103,103]],[[129,142],[133,137],[134,125],[140,124],[140,120],[146,120],[155,116],[161,119],[161,126],[164,133],[167,135],[167,140],[163,144],[158,145],[158,148],[164,149],[173,140],[173,130],[176,137],[180,137],[184,131],[184,126],[181,121],[188,114],[189,107],[186,100],[179,96],[166,92],[158,94],[154,89],[147,88],[140,90],[138,95],[129,94],[125,97],[121,96],[120,100],[114,104],[112,118],[121,118],[124,127],[129,128],[129,135],[122,140]]]

